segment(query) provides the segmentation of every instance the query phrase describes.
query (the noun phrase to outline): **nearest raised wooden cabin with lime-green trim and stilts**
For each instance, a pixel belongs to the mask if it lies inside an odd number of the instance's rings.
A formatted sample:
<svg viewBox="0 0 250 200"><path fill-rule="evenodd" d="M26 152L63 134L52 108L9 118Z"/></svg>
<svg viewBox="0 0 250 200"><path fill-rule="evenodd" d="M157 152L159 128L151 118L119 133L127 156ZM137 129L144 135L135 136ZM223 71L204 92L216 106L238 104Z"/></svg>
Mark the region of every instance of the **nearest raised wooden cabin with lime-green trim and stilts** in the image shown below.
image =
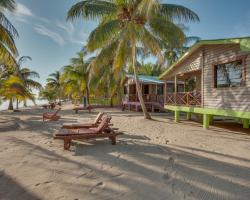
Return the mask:
<svg viewBox="0 0 250 200"><path fill-rule="evenodd" d="M203 115L208 128L213 116L233 117L249 128L250 121L250 37L202 40L192 46L161 76L174 80L174 93L166 94L164 108ZM178 81L185 82L178 92Z"/></svg>

